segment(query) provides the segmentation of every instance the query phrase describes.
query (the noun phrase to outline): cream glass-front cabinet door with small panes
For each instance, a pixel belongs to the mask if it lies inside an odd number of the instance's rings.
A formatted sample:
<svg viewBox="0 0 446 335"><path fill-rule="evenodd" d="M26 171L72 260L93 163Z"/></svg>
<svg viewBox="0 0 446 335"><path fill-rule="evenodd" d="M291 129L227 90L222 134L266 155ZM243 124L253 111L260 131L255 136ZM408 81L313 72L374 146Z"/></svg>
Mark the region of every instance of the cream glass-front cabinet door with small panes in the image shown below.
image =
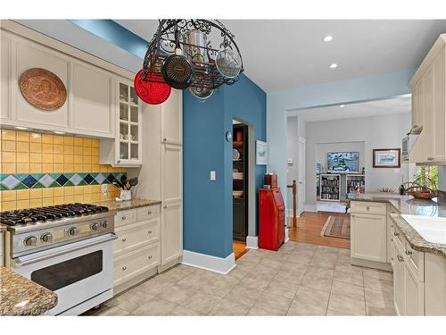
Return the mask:
<svg viewBox="0 0 446 335"><path fill-rule="evenodd" d="M132 83L118 81L118 124L116 129L116 163L118 165L140 165L142 163L142 102L136 95Z"/></svg>

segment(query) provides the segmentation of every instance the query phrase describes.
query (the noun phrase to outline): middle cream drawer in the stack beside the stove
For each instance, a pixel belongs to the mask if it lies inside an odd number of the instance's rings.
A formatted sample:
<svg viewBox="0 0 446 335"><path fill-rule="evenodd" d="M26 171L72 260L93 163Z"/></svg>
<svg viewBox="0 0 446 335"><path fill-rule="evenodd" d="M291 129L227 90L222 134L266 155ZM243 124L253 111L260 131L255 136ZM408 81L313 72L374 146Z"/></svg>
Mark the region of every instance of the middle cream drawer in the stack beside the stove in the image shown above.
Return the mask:
<svg viewBox="0 0 446 335"><path fill-rule="evenodd" d="M115 230L118 239L114 240L114 255L122 255L138 247L149 245L159 240L160 220L153 219L131 223Z"/></svg>

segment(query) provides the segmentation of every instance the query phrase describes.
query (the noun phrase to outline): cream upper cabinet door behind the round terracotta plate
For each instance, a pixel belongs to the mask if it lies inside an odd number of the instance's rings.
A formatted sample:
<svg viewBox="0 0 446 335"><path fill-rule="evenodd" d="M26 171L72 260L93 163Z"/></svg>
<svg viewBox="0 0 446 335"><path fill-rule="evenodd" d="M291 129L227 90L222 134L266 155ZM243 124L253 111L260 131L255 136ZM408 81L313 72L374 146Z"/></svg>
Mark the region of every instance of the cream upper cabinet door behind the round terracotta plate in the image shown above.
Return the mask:
<svg viewBox="0 0 446 335"><path fill-rule="evenodd" d="M19 80L21 74L24 71L28 71L32 68L42 68L48 71L52 71L60 80L62 80L63 85L69 91L69 72L70 63L67 59L62 58L60 55L54 53L49 48L44 46L39 46L35 43L29 42L27 40L18 40L15 43L15 57L12 59L12 64L15 61L15 66L12 71L12 89L13 96L15 99L15 108L12 105L12 119L15 119L21 123L21 125L44 128L44 129L54 129L52 127L62 127L64 129L70 127L70 117L69 117L69 99L67 96L67 101L62 107L56 109L55 111L43 111L30 105L27 100L21 95L21 90L19 88ZM15 115L14 115L15 110ZM15 117L14 117L15 116Z"/></svg>

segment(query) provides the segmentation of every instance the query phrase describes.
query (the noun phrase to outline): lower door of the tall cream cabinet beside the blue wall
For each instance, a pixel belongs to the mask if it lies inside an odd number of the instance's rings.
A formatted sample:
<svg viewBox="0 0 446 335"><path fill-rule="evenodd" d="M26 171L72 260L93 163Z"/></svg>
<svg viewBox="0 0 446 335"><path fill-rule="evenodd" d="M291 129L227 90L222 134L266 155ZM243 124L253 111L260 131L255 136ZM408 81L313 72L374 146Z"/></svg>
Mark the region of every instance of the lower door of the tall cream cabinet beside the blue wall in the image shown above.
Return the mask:
<svg viewBox="0 0 446 335"><path fill-rule="evenodd" d="M179 201L162 206L161 265L169 264L183 255L183 205Z"/></svg>

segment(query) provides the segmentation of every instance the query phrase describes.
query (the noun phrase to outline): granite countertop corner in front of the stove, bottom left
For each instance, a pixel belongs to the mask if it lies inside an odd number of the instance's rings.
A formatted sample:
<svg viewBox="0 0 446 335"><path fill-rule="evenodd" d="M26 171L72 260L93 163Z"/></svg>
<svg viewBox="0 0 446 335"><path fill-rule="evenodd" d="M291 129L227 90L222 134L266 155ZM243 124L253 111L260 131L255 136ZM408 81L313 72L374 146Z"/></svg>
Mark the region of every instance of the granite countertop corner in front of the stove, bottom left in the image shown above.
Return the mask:
<svg viewBox="0 0 446 335"><path fill-rule="evenodd" d="M0 266L0 315L40 315L57 305L57 295Z"/></svg>

